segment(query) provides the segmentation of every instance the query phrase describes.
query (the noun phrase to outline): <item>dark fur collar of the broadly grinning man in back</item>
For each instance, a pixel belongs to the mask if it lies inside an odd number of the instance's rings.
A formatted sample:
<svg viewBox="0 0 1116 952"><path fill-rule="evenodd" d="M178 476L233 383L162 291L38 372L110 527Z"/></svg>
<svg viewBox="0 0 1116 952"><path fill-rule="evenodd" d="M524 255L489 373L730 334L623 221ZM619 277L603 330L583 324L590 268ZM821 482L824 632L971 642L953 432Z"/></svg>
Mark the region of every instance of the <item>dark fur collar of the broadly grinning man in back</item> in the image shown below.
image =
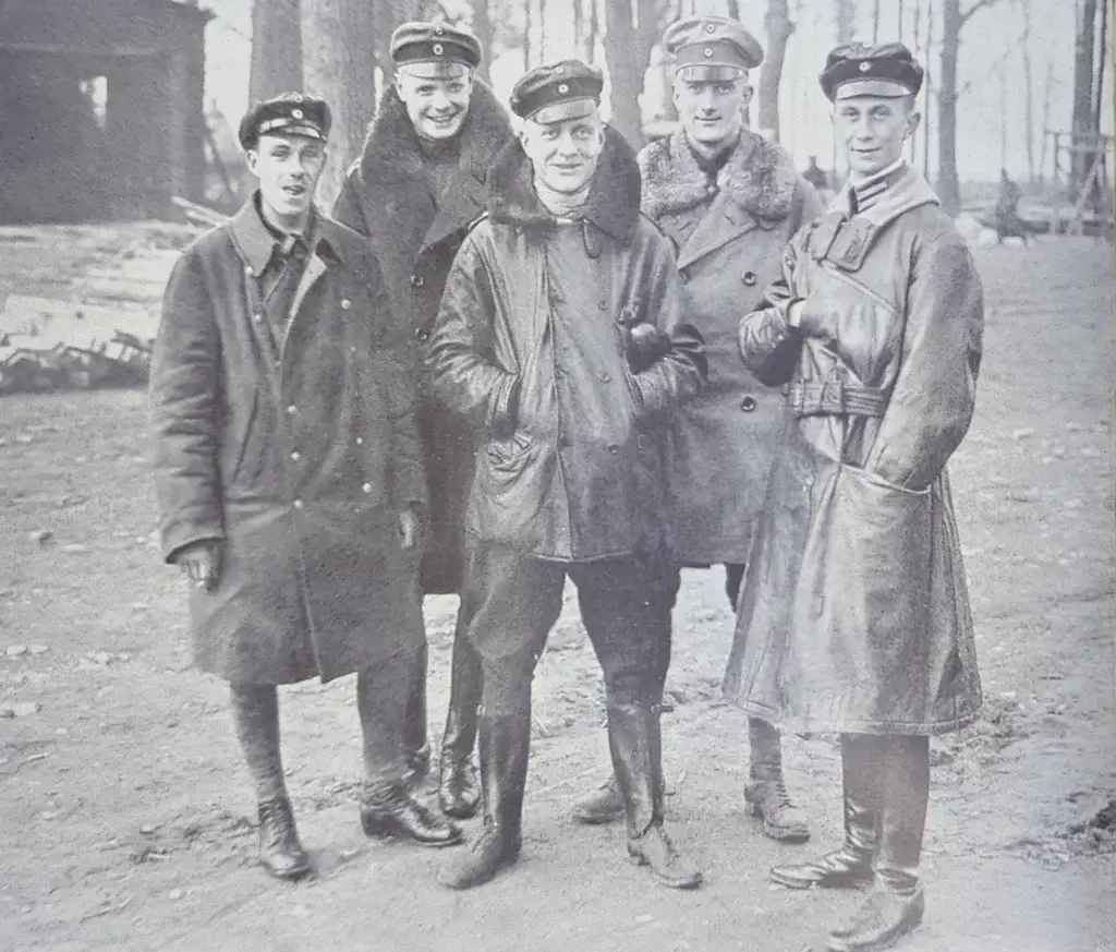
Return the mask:
<svg viewBox="0 0 1116 952"><path fill-rule="evenodd" d="M479 79L473 79L469 114L459 135L462 144L459 167L484 182L489 165L512 132L503 106ZM419 136L394 83L381 96L376 118L368 127L360 152L359 170L365 187L381 193L413 186L425 177L426 163Z"/></svg>

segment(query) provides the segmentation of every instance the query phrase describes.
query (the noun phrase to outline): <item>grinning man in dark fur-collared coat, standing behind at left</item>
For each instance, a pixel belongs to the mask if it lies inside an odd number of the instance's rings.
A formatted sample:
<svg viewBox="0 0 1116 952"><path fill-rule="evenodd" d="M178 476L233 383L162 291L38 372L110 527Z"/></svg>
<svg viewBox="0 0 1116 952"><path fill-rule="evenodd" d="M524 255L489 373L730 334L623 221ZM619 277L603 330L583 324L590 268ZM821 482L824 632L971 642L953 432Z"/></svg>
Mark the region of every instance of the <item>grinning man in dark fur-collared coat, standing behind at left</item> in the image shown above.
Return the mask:
<svg viewBox="0 0 1116 952"><path fill-rule="evenodd" d="M469 225L484 211L488 170L511 138L491 90L472 76L477 39L444 23L404 23L392 37L396 81L386 90L335 217L371 238L403 333L416 347L430 337L450 265ZM477 810L471 766L480 669L462 633L471 615L461 590L462 513L473 471L469 425L430 395L415 362L419 432L430 487L423 592L460 593L453 673L442 739L440 800L451 816ZM426 652L419 656L407 708L413 776L426 771Z"/></svg>

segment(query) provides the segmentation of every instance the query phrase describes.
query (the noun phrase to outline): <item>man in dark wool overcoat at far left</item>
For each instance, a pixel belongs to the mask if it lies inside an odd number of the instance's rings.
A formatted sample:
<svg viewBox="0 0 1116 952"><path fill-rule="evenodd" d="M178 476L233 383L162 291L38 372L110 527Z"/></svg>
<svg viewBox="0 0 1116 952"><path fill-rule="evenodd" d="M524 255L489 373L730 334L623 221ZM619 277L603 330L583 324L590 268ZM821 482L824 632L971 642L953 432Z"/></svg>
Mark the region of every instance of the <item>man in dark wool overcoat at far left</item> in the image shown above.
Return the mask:
<svg viewBox="0 0 1116 952"><path fill-rule="evenodd" d="M260 860L285 879L310 864L278 684L356 672L365 831L461 838L403 782L426 492L408 345L376 259L314 205L328 129L327 105L299 94L244 117L259 190L175 265L151 379L163 554L193 583L195 662L230 682Z"/></svg>

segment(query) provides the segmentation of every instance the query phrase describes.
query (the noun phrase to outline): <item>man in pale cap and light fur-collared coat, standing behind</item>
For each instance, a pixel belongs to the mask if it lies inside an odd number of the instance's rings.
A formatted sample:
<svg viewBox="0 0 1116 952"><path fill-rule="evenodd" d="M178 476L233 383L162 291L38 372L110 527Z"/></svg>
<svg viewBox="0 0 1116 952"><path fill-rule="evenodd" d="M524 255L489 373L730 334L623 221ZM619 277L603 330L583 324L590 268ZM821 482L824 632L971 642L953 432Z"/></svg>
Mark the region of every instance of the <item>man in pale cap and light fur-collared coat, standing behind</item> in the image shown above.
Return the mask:
<svg viewBox="0 0 1116 952"><path fill-rule="evenodd" d="M642 206L674 243L689 319L709 359L705 391L674 429L672 546L680 565L723 565L735 607L785 412L779 391L741 364L737 328L779 275L791 235L821 205L791 157L745 128L748 70L763 58L747 30L720 17L686 19L666 30L663 47L675 60L681 127L639 154ZM672 598L677 586L675 575ZM768 836L806 839L806 819L783 783L778 732L752 718L749 738L749 809ZM619 807L610 781L575 818L602 823L618 818Z"/></svg>

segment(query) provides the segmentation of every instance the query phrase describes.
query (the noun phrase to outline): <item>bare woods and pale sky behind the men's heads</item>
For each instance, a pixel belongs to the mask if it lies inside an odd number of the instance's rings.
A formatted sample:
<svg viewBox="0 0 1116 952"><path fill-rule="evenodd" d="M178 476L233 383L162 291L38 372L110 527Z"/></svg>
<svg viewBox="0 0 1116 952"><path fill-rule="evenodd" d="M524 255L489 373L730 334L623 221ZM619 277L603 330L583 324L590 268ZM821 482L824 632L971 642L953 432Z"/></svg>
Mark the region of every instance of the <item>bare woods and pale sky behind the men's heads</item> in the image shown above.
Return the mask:
<svg viewBox="0 0 1116 952"><path fill-rule="evenodd" d="M1031 182L1041 181L1050 164L1048 136L1039 134L1051 125L1051 88L1042 84L1043 102L1037 103L1036 73L1046 70L1052 56L1033 61L1030 29L1036 4L1050 0L834 0L830 10L833 41L892 40L894 29L882 33L885 18L899 27L898 39L910 46L927 67L925 89L920 98L923 112L921 141L913 157L931 174L931 136L937 156L936 187L943 205L955 213L961 206L958 175L958 109L973 81L959 83L962 57L987 56L980 46L965 44L966 27L982 10L1000 8L1004 28L1019 31L1020 42L1009 44L991 60L981 83L999 83L1001 102L1007 100L1009 59L1022 61L1024 108L1018 117L1027 127L1027 167ZM1103 104L1112 99L1104 88L1106 36L1112 0L1062 0L1067 17L1075 21L1072 138L1070 191L1080 184L1093 164L1087 143L1100 128ZM750 16L762 11L767 57L756 81L752 110L754 127L778 140L792 134L795 115L780 116L780 81L788 42L796 23L807 12L817 13L816 2L766 0L747 4ZM344 170L356 155L375 110L376 93L391 78L387 44L392 30L405 20L445 20L472 29L488 52L481 67L508 50L521 52L522 68L538 65L547 50L548 32L568 37L573 30L578 55L604 67L609 122L636 146L660 134L674 118L670 106L667 65L658 39L672 20L692 13L720 13L740 19L739 0L254 0L252 8L252 99L279 92L305 88L328 98L335 109L335 157L326 181L328 201L339 187ZM869 25L870 35L864 26ZM758 23L754 26L759 26ZM859 26L859 29L857 27ZM819 64L820 65L820 64ZM657 77L656 77L657 74ZM654 95L653 95L654 90ZM652 102L654 100L654 102ZM648 117L648 114L651 116ZM1001 152L1007 152L1008 126L1016 117L1007 109L998 116ZM1037 148L1038 143L1038 148ZM1051 140L1050 148L1056 148ZM836 153L835 153L836 155ZM834 161L834 156L822 160ZM822 162L825 164L825 162ZM1006 162L1003 163L1006 164Z"/></svg>

